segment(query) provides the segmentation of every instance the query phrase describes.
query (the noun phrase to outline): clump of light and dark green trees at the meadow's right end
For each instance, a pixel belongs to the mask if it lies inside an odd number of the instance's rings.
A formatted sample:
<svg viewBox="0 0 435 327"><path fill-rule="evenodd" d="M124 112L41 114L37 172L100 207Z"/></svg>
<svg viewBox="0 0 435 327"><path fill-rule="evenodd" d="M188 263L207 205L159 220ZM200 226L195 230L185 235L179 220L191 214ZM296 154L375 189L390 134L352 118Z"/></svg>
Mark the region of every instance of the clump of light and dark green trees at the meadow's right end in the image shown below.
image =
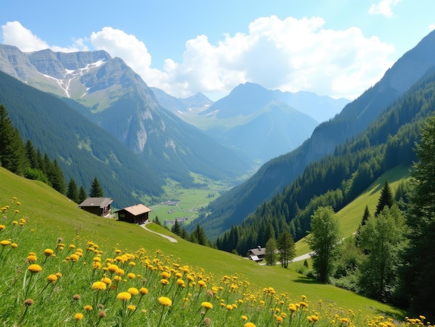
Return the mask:
<svg viewBox="0 0 435 327"><path fill-rule="evenodd" d="M411 178L397 187L388 181L374 215L363 212L356 233L341 239L331 206L311 216L307 242L313 269L305 274L435 319L435 116L416 144Z"/></svg>

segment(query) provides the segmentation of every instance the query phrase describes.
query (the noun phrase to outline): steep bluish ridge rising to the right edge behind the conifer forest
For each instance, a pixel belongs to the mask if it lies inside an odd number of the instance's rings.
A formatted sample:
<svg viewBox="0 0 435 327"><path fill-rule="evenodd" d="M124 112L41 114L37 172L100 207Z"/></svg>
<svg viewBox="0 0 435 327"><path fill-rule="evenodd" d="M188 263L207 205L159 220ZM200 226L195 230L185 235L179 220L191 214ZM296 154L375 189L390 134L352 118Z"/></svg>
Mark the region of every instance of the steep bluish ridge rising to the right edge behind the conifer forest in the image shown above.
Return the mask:
<svg viewBox="0 0 435 327"><path fill-rule="evenodd" d="M254 176L210 203L209 214L197 219L209 236L220 235L240 224L250 212L303 173L310 162L334 153L339 144L356 137L435 65L435 32L429 33L402 56L383 78L347 104L334 119L315 128L313 135L294 151L266 162ZM315 187L315 186L314 186Z"/></svg>

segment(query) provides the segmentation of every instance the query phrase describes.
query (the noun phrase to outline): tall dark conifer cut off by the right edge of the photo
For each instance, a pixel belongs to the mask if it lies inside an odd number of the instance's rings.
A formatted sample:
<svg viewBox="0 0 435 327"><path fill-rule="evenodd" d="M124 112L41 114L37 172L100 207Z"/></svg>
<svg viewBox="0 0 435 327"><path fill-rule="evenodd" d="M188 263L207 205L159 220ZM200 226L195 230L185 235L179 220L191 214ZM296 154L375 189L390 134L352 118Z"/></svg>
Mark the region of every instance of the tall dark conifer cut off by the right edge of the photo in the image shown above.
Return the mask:
<svg viewBox="0 0 435 327"><path fill-rule="evenodd" d="M404 300L411 299L413 312L435 319L435 116L422 130L416 155L405 216L410 230L402 292Z"/></svg>

